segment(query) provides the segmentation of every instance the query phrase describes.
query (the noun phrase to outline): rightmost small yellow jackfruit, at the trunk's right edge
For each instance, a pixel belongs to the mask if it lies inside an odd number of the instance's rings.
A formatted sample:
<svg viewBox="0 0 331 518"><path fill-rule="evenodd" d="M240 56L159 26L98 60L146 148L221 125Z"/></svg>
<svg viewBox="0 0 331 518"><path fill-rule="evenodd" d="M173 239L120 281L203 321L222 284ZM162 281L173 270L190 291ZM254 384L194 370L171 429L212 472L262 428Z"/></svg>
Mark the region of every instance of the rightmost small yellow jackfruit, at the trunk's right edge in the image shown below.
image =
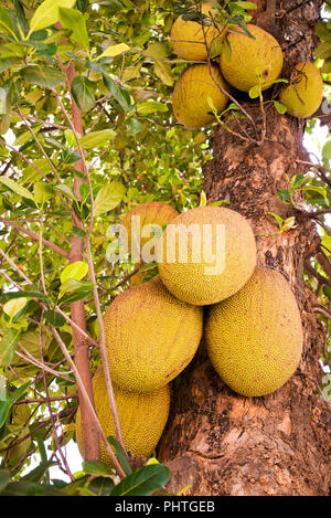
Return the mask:
<svg viewBox="0 0 331 518"><path fill-rule="evenodd" d="M318 67L310 62L296 65L298 71L293 83L281 88L279 101L293 117L306 118L313 115L323 98L323 80Z"/></svg>

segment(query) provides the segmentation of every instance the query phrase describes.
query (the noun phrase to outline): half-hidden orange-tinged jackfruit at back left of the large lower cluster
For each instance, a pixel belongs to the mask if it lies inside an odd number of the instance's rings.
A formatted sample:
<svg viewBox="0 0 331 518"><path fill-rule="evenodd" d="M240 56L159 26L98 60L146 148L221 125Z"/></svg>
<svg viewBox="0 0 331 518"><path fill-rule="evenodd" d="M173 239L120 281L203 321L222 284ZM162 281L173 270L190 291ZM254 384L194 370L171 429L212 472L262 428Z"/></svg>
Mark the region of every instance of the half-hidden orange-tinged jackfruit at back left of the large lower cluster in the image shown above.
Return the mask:
<svg viewBox="0 0 331 518"><path fill-rule="evenodd" d="M132 255L139 258L141 252L143 253L141 249L153 239L153 225L163 226L177 215L179 213L173 207L161 201L140 203L131 209L122 220L122 225L128 233L129 253L132 252Z"/></svg>

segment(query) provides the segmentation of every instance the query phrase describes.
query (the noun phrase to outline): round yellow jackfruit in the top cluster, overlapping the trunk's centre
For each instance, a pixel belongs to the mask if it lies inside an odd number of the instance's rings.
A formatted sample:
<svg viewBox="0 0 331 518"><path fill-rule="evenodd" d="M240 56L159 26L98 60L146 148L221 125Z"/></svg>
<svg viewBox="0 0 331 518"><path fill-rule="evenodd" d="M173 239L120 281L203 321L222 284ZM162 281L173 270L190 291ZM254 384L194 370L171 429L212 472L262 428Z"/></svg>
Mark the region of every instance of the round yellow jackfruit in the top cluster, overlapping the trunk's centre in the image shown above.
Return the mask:
<svg viewBox="0 0 331 518"><path fill-rule="evenodd" d="M255 39L244 32L227 35L231 56L222 52L221 72L227 83L242 92L249 92L258 84L258 74L264 80L263 89L269 88L282 68L281 47L264 29L253 24L248 24L247 29Z"/></svg>

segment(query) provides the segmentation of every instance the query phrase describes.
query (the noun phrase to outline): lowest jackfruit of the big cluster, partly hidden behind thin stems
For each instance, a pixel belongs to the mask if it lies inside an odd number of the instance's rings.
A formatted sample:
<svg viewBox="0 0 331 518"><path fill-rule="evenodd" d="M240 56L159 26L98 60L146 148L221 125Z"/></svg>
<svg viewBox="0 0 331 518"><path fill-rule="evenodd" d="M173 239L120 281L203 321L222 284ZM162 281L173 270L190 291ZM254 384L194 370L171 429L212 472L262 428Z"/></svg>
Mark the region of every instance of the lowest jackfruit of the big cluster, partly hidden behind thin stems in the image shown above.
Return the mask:
<svg viewBox="0 0 331 518"><path fill-rule="evenodd" d="M149 457L156 448L166 426L170 408L170 387L139 394L125 392L113 385L116 408L119 416L126 450L137 457ZM104 373L98 369L93 378L95 410L106 437L115 436L115 426ZM76 440L84 457L84 442L81 410L76 416ZM100 441L100 459L111 466L111 459Z"/></svg>

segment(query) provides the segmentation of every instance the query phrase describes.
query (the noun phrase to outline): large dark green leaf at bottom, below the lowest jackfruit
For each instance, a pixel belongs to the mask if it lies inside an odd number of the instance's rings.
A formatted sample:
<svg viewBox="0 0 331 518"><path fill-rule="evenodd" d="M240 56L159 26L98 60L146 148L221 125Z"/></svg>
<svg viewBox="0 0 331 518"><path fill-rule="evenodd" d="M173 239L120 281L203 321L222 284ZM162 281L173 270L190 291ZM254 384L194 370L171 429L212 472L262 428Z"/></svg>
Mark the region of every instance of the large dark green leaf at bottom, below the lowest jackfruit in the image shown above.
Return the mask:
<svg viewBox="0 0 331 518"><path fill-rule="evenodd" d="M143 466L122 478L110 496L148 496L164 486L169 478L170 471L162 464Z"/></svg>

